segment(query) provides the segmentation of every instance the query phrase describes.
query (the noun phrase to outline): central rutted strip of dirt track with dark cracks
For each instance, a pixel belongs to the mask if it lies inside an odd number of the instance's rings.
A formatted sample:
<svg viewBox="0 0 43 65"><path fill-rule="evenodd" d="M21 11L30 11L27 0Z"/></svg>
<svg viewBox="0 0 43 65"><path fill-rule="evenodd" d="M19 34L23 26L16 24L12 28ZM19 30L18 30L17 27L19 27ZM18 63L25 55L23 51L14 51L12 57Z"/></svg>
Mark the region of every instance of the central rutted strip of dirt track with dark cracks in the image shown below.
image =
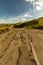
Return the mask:
<svg viewBox="0 0 43 65"><path fill-rule="evenodd" d="M32 57L32 48L28 44L30 39L28 39L28 35L26 34L25 31L20 33L20 39L22 41L22 46L18 48L19 57L18 57L16 65L36 65L36 62L34 58ZM29 50L28 50L28 47L29 47Z"/></svg>

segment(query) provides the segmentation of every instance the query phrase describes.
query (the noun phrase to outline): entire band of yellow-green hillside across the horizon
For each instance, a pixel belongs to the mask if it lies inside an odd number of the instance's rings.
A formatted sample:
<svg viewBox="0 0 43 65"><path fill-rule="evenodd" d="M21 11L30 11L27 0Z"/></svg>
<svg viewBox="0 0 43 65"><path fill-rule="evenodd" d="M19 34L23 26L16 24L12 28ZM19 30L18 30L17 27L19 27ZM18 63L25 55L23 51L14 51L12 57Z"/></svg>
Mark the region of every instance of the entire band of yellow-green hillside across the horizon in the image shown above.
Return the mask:
<svg viewBox="0 0 43 65"><path fill-rule="evenodd" d="M0 33L9 31L11 28L43 29L43 17L26 21L24 23L19 22L16 24L0 24Z"/></svg>

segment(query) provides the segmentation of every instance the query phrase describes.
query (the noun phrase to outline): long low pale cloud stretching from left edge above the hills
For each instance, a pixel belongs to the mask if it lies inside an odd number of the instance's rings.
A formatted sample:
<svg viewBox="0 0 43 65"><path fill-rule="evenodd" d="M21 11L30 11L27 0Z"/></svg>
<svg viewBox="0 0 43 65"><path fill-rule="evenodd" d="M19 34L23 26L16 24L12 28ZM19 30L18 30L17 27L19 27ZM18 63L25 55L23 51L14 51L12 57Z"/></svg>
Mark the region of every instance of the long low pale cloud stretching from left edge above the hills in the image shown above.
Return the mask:
<svg viewBox="0 0 43 65"><path fill-rule="evenodd" d="M0 23L16 23L16 22L24 22L26 20L29 20L29 18L32 18L33 16L29 13L24 13L22 15L19 15L17 17L11 17L7 20L0 20Z"/></svg>

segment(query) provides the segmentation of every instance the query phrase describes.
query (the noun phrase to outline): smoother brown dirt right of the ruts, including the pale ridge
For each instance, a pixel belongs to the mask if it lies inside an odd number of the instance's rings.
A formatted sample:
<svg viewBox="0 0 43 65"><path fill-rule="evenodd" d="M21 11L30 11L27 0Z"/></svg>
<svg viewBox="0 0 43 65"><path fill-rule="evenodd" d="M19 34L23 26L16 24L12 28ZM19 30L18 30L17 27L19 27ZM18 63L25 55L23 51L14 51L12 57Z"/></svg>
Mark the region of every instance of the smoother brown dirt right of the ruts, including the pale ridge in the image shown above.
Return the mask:
<svg viewBox="0 0 43 65"><path fill-rule="evenodd" d="M31 46L37 65L43 65L43 30L27 29L32 38ZM32 32L32 33L31 33ZM40 33L42 36L40 36Z"/></svg>

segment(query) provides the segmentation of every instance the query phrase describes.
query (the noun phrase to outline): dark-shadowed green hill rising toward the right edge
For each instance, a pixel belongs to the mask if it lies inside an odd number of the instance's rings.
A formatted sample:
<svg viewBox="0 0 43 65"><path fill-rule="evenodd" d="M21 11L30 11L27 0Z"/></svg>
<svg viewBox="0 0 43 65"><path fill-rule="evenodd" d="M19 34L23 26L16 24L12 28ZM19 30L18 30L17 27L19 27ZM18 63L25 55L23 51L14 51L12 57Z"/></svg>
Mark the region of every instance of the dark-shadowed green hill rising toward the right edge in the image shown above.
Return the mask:
<svg viewBox="0 0 43 65"><path fill-rule="evenodd" d="M24 28L24 27L32 29L43 29L43 17L31 21L26 21L24 23L14 24L14 28Z"/></svg>

